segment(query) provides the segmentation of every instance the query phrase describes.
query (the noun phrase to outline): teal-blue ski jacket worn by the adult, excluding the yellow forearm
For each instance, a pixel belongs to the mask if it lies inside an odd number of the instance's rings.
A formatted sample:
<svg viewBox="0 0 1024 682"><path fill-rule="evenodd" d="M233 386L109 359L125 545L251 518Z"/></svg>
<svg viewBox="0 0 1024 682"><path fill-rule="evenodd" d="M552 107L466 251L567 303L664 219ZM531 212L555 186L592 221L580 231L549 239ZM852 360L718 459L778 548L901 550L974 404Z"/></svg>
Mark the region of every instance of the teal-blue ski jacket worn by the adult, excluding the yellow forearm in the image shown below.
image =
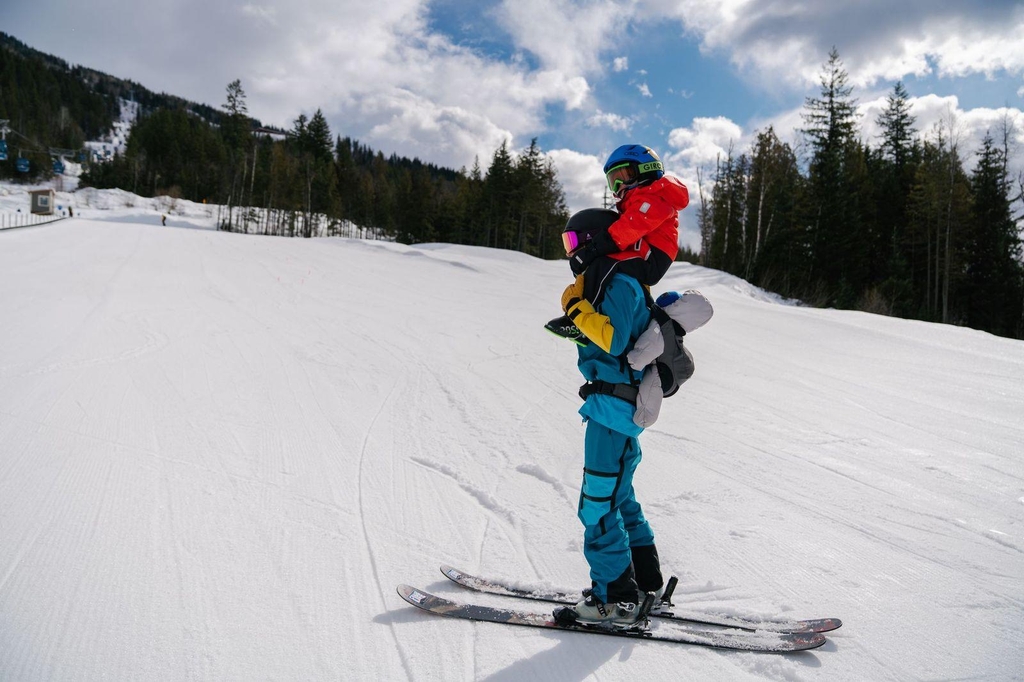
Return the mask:
<svg viewBox="0 0 1024 682"><path fill-rule="evenodd" d="M626 274L612 275L605 285L604 299L597 306L597 312L607 316L614 330L610 352L605 352L596 343L580 346L577 363L580 373L587 381L639 383L643 373L630 368L626 353L650 322L650 310L640 283ZM580 408L584 421L592 419L613 431L637 436L643 429L633 422L633 412L634 407L626 400L604 394L589 396Z"/></svg>

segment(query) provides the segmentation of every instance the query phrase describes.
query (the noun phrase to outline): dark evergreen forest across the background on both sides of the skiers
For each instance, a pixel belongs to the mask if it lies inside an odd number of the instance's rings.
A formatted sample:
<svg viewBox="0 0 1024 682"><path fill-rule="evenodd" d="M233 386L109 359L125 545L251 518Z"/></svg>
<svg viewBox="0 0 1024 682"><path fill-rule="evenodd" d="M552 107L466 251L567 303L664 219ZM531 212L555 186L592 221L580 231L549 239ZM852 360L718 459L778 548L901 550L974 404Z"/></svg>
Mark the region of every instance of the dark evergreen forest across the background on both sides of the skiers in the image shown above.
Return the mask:
<svg viewBox="0 0 1024 682"><path fill-rule="evenodd" d="M799 148L771 127L690 186L698 261L811 305L969 326L1024 338L1020 236L1024 177L1014 176L1016 122L967 150L950 115L918 130L902 83L863 140L853 88L834 49L808 97ZM48 173L47 148L104 134L121 97L140 103L127 152L89 165L82 183L219 207L222 229L312 237L353 226L402 243L447 242L563 255L568 217L557 172L537 140L507 143L486 167L453 170L385 157L330 130L321 111L266 134L240 81L214 109L71 67L0 34L0 119ZM13 155L11 155L13 156ZM31 156L31 154L30 154ZM966 159L973 159L970 167ZM13 159L0 177L24 177Z"/></svg>

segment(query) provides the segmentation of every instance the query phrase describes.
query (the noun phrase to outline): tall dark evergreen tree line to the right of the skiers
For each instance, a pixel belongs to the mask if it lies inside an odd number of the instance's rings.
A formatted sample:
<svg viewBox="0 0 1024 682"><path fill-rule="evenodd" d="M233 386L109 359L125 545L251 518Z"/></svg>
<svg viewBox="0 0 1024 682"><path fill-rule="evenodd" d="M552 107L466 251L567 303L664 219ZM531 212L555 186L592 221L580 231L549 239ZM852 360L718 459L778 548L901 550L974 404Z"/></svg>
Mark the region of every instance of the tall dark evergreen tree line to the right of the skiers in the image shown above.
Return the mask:
<svg viewBox="0 0 1024 682"><path fill-rule="evenodd" d="M833 49L804 108L806 164L768 127L710 178L698 173L701 262L815 305L1024 338L1014 122L990 131L966 169L952 115L921 135L897 83L871 146L852 91Z"/></svg>

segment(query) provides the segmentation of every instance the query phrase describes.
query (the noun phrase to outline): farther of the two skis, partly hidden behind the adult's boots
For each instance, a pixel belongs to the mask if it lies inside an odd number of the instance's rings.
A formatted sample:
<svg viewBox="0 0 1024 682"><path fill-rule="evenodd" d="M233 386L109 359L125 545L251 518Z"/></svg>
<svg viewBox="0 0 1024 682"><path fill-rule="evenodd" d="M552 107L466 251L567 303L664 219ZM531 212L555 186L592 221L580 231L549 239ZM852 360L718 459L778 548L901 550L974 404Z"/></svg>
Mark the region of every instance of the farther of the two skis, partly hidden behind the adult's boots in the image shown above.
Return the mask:
<svg viewBox="0 0 1024 682"><path fill-rule="evenodd" d="M509 585L502 581L486 580L476 578L463 572L458 568L442 565L441 572L450 581L461 585L464 588L497 594L505 597L518 597L520 599L532 599L535 601L547 601L555 604L574 604L580 597L564 592L551 590L527 590L524 588ZM664 607L663 607L664 609ZM746 631L766 631L776 633L822 633L837 630L843 626L839 619L811 619L811 620L761 620L751 619L726 613L714 613L693 609L677 608L675 605L669 607L670 610L655 610L651 616L666 619L679 623L691 623L701 626L718 626L721 628L733 628Z"/></svg>

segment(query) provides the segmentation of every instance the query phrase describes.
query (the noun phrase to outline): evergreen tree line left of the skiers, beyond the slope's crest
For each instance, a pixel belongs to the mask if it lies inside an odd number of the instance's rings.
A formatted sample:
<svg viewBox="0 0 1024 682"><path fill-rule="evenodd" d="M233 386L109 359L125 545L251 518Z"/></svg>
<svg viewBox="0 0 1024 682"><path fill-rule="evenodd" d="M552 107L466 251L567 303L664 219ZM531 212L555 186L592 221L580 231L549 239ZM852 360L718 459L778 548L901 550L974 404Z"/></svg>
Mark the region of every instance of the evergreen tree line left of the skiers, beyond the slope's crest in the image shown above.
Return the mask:
<svg viewBox="0 0 1024 682"><path fill-rule="evenodd" d="M319 110L285 139L253 134L239 81L223 110L219 126L182 109L141 117L124 156L82 181L224 205L220 226L232 231L311 237L354 223L403 243L562 255L564 194L537 140L518 155L503 143L485 172L478 162L455 171L335 136Z"/></svg>

